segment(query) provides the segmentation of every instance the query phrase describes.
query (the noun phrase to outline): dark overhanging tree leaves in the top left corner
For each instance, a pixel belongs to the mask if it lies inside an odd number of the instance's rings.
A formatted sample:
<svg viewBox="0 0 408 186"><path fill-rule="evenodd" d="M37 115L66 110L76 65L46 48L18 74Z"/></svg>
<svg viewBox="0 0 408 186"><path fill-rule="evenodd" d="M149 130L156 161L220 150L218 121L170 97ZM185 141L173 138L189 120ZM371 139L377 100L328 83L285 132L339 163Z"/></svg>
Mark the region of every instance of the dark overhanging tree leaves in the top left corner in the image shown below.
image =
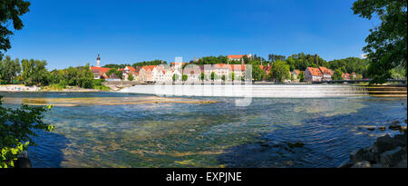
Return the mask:
<svg viewBox="0 0 408 186"><path fill-rule="evenodd" d="M24 0L0 1L0 60L3 59L2 51L6 52L11 48L10 36L14 34L7 28L7 24L13 22L15 30L23 29L20 16L30 11L29 6L30 2Z"/></svg>

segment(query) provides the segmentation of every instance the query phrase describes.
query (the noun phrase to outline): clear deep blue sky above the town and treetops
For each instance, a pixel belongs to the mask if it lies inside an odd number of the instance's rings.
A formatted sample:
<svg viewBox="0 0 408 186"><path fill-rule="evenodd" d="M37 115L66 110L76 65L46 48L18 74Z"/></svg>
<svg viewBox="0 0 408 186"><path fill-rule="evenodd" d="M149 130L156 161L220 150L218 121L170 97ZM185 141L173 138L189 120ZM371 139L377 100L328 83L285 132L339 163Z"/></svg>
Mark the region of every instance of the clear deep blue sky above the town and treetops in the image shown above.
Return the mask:
<svg viewBox="0 0 408 186"><path fill-rule="evenodd" d="M33 0L12 58L48 68L174 61L219 54L360 57L376 24L354 15L354 0Z"/></svg>

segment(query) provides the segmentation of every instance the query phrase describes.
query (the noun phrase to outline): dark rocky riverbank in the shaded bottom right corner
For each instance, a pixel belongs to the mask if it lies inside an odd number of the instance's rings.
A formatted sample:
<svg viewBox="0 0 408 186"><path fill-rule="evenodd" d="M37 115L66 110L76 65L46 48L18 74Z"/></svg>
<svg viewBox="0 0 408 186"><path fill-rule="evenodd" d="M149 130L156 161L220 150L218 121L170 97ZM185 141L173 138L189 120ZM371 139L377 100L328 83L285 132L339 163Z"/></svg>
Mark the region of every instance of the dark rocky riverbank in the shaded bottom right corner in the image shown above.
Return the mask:
<svg viewBox="0 0 408 186"><path fill-rule="evenodd" d="M339 168L406 168L407 133L386 134L377 138L372 147L365 147L350 153L350 160Z"/></svg>

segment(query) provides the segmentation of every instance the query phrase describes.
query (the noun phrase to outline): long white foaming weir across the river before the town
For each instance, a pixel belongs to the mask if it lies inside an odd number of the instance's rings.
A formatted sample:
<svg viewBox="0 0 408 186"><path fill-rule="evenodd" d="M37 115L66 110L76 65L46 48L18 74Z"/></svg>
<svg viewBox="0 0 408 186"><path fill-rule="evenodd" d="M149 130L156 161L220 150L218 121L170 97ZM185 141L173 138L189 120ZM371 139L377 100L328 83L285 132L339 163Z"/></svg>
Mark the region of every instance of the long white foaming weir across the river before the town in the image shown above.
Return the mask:
<svg viewBox="0 0 408 186"><path fill-rule="evenodd" d="M159 96L259 98L327 98L368 95L363 86L348 84L135 85L124 88L119 92Z"/></svg>

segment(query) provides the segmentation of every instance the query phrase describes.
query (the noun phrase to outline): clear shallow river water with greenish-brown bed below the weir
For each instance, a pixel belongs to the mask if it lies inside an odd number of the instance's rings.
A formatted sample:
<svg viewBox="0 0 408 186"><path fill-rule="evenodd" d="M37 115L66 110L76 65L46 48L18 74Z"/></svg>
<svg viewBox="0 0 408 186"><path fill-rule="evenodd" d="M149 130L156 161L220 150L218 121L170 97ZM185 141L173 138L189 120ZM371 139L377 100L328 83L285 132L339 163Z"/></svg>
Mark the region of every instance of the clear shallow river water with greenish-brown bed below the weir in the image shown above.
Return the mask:
<svg viewBox="0 0 408 186"><path fill-rule="evenodd" d="M147 97L129 93L0 93L24 97ZM194 98L218 103L54 107L29 148L34 167L336 167L406 119L406 98ZM18 105L5 103L6 106ZM406 125L403 123L403 125ZM287 142L304 142L290 148Z"/></svg>

